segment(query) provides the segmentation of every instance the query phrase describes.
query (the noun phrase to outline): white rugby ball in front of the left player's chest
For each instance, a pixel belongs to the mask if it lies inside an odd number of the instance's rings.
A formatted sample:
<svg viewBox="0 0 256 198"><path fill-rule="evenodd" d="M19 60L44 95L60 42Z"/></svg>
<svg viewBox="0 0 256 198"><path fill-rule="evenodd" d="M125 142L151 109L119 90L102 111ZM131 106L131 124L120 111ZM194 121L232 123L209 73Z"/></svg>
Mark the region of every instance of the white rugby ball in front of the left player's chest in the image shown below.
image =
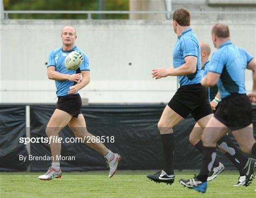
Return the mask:
<svg viewBox="0 0 256 198"><path fill-rule="evenodd" d="M70 52L65 59L65 67L69 70L76 70L83 61L83 54L80 51Z"/></svg>

